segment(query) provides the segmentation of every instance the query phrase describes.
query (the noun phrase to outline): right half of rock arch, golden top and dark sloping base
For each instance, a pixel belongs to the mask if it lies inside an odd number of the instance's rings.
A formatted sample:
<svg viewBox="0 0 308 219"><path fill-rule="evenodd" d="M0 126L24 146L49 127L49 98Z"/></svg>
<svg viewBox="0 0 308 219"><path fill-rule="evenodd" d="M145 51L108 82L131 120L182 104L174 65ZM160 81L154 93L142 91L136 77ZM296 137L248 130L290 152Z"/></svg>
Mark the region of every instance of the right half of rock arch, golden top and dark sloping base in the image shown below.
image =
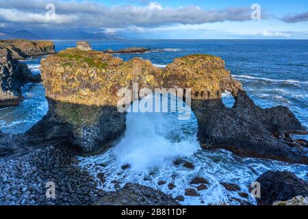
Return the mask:
<svg viewBox="0 0 308 219"><path fill-rule="evenodd" d="M238 155L308 164L307 156L272 134L304 134L307 129L287 107L262 109L255 105L219 57L188 55L176 59L164 70L164 86L192 89L192 110L203 149L228 149ZM226 90L235 99L232 108L222 103Z"/></svg>

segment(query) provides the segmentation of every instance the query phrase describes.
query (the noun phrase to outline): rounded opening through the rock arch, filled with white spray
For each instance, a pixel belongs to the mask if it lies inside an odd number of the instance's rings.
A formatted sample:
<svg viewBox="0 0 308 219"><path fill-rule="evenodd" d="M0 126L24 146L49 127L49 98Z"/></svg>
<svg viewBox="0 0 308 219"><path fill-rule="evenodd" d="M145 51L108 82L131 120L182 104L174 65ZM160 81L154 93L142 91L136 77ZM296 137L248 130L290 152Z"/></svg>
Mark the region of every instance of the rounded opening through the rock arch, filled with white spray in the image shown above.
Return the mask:
<svg viewBox="0 0 308 219"><path fill-rule="evenodd" d="M157 103L164 107L165 98L167 111L155 112ZM153 111L133 110L149 103ZM128 108L125 135L112 148L114 157L121 164L129 164L133 170L159 168L172 164L179 157L190 157L201 149L196 137L196 116L179 96L154 92L133 101ZM190 118L179 119L187 111L191 112Z"/></svg>

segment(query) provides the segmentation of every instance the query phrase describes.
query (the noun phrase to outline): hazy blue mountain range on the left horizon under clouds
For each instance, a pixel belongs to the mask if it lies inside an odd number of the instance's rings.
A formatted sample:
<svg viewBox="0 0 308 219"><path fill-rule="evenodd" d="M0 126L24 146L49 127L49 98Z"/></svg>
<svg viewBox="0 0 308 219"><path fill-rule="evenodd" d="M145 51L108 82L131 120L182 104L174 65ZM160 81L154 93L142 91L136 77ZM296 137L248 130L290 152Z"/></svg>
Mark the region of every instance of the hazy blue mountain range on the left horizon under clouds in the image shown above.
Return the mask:
<svg viewBox="0 0 308 219"><path fill-rule="evenodd" d="M124 39L118 34L90 33L86 31L1 31L0 39L25 39L25 40L120 40Z"/></svg>

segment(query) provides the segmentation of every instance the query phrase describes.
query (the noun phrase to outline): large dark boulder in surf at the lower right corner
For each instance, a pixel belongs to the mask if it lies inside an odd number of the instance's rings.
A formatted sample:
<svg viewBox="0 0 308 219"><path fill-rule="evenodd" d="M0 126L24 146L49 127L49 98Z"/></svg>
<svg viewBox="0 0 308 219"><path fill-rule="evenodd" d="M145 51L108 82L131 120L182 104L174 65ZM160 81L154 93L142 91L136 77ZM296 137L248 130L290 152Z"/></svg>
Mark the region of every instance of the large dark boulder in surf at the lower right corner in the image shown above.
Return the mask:
<svg viewBox="0 0 308 219"><path fill-rule="evenodd" d="M275 201L287 201L295 196L308 196L308 183L287 171L268 171L260 175L261 198L258 205L272 205Z"/></svg>

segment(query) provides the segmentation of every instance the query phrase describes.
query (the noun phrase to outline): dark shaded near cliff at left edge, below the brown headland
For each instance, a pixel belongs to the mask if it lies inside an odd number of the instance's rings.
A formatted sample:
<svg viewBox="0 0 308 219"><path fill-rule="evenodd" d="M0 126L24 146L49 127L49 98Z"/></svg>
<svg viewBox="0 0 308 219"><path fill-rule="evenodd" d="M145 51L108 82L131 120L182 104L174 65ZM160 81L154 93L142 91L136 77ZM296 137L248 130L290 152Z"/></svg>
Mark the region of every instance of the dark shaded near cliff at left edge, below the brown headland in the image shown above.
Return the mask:
<svg viewBox="0 0 308 219"><path fill-rule="evenodd" d="M21 87L25 83L39 82L26 64L14 60L10 50L0 46L0 107L18 105L23 99Z"/></svg>

